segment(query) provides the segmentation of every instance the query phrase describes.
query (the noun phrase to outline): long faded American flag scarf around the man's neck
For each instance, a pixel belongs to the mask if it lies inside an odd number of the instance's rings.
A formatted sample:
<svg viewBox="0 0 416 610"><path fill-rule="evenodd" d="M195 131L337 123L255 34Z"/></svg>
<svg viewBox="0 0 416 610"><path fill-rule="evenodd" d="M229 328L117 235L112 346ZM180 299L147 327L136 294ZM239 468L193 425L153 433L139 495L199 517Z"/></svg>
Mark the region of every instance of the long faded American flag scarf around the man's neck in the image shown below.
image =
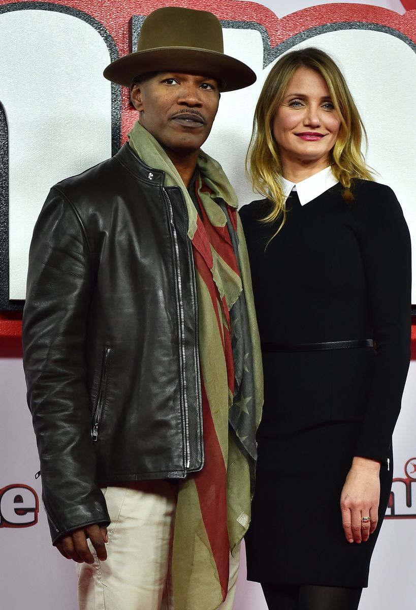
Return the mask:
<svg viewBox="0 0 416 610"><path fill-rule="evenodd" d="M175 610L215 610L228 590L229 553L250 520L256 428L263 401L260 342L237 197L221 166L201 151L195 196L149 132L130 144L182 189L188 211L199 316L203 469L179 481L173 541Z"/></svg>

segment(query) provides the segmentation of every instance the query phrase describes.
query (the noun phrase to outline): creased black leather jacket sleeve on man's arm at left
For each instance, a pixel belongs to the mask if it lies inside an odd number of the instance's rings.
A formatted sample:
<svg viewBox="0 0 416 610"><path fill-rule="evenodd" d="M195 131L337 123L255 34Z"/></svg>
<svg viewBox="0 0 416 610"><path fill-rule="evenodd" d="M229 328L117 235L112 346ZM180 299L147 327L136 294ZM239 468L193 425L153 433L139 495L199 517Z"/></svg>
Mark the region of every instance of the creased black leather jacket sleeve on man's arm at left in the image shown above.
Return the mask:
<svg viewBox="0 0 416 610"><path fill-rule="evenodd" d="M94 265L74 206L52 188L35 225L23 314L27 401L52 541L109 523L95 483L85 342Z"/></svg>

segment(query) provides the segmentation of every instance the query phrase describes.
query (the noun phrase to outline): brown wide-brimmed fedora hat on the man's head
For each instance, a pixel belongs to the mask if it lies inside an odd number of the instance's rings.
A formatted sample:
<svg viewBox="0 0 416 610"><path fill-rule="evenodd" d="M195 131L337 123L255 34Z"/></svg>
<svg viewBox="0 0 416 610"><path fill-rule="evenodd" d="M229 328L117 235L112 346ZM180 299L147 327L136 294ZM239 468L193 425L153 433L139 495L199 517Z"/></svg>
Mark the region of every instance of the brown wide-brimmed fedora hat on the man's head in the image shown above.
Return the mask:
<svg viewBox="0 0 416 610"><path fill-rule="evenodd" d="M242 89L256 81L245 63L224 55L223 30L215 15L173 6L146 17L137 51L110 63L104 76L129 87L136 76L161 71L206 74L221 81L221 91Z"/></svg>

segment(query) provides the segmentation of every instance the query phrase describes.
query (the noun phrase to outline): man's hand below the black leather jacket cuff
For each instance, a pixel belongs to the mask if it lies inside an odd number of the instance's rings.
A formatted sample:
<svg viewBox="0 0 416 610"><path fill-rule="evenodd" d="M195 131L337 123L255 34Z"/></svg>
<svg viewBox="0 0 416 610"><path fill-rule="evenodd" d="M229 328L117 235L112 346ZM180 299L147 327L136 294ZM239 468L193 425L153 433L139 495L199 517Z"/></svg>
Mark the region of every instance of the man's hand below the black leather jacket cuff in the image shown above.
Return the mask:
<svg viewBox="0 0 416 610"><path fill-rule="evenodd" d="M93 564L95 559L88 548L87 538L95 548L100 561L107 559L106 542L109 541L107 528L104 525L86 525L85 528L74 529L70 534L62 536L56 543L59 552L66 559L73 559L78 564Z"/></svg>

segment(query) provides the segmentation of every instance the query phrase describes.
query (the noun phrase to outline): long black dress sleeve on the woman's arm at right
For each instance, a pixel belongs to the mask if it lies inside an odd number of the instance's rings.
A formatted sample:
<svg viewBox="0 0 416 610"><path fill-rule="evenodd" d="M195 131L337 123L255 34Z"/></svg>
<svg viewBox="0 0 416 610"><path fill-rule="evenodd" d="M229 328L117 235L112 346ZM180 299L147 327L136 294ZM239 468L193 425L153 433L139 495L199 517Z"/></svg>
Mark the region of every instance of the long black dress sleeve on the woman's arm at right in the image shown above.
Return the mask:
<svg viewBox="0 0 416 610"><path fill-rule="evenodd" d="M411 352L411 240L400 204L384 185L357 193L357 234L376 342L376 368L356 456L386 462Z"/></svg>

